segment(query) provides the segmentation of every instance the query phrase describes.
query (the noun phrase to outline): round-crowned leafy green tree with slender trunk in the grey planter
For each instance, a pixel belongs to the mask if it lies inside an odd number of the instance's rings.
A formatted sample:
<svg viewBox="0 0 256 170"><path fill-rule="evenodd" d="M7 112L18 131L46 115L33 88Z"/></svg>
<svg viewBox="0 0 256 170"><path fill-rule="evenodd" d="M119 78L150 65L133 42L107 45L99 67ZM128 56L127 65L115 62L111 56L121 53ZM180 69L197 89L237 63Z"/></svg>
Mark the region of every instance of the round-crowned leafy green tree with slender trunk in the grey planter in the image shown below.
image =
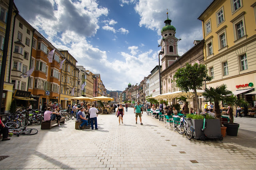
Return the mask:
<svg viewBox="0 0 256 170"><path fill-rule="evenodd" d="M190 89L194 91L197 113L200 113L200 108L196 89L202 87L202 85L204 85L203 82L212 80L212 77L210 77L207 72L208 70L203 64L198 65L198 63L195 63L194 65L191 65L186 63L186 67L179 68L174 74L176 86L179 87L181 91L188 92Z"/></svg>

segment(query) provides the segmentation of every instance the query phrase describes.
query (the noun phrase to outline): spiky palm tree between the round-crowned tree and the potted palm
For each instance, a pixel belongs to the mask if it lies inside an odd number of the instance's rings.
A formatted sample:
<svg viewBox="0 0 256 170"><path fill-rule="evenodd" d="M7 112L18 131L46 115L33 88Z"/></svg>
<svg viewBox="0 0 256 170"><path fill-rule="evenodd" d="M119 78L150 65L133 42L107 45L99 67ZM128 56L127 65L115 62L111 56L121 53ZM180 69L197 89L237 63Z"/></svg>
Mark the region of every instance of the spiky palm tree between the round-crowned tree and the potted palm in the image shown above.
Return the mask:
<svg viewBox="0 0 256 170"><path fill-rule="evenodd" d="M214 102L214 111L215 117L221 121L221 112L220 112L220 101L224 101L227 95L232 94L232 91L227 89L227 85L222 84L216 88L210 87L204 89L202 94L206 101Z"/></svg>

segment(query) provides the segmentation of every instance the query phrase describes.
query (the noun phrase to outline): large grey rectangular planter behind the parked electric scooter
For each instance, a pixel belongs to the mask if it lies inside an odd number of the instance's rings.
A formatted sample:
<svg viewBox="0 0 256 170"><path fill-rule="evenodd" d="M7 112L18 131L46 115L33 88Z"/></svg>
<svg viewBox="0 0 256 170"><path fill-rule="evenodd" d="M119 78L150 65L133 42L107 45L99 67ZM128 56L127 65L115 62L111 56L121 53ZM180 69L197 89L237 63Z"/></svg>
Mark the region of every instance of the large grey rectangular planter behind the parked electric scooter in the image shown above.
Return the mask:
<svg viewBox="0 0 256 170"><path fill-rule="evenodd" d="M185 119L186 121L188 121L187 118ZM199 139L203 134L202 127L204 125L204 120L191 119L191 121L188 121L188 125L194 128L194 138ZM220 119L206 119L206 128L204 130L204 134L208 138L219 138L219 136L221 135Z"/></svg>

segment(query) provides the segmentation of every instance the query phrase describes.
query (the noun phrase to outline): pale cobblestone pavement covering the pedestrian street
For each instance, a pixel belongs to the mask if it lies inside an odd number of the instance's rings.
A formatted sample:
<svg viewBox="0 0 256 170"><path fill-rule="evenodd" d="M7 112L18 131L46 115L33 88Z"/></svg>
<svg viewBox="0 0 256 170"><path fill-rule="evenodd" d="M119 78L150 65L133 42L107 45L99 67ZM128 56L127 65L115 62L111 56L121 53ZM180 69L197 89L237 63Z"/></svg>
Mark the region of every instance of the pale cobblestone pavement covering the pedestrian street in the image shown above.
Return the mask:
<svg viewBox="0 0 256 170"><path fill-rule="evenodd" d="M98 130L76 130L74 121L51 130L31 126L38 134L0 141L0 156L9 156L0 169L256 169L256 132L188 140L146 113L144 125L136 125L132 111L125 112L123 125L115 113L99 115Z"/></svg>

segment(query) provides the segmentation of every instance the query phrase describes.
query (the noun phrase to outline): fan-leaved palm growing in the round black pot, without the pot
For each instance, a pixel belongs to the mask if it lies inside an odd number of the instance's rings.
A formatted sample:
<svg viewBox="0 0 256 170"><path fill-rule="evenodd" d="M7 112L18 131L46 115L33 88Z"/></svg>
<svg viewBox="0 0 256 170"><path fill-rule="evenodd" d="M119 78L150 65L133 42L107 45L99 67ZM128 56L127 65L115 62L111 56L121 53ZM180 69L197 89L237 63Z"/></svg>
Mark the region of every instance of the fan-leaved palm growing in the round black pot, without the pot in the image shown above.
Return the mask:
<svg viewBox="0 0 256 170"><path fill-rule="evenodd" d="M244 107L245 105L249 105L247 101L244 99L237 99L237 97L234 95L225 96L224 102L226 102L227 105L230 105L230 109L228 109L230 124L234 124L233 107Z"/></svg>

